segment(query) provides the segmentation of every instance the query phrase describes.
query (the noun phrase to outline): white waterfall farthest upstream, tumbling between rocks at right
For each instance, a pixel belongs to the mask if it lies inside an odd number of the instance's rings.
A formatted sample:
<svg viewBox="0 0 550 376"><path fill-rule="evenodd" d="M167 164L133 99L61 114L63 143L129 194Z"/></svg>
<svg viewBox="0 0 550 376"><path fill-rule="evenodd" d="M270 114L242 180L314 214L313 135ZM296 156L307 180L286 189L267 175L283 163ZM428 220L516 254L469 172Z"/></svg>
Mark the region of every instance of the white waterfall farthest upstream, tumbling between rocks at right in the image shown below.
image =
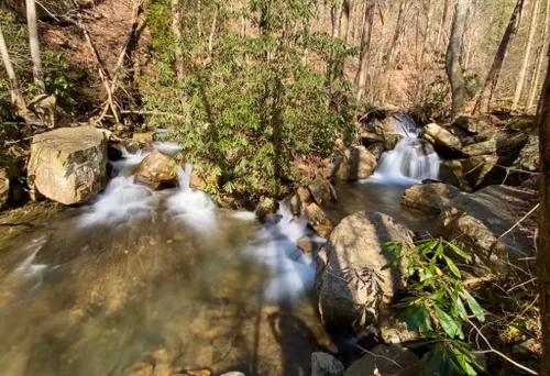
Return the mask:
<svg viewBox="0 0 550 376"><path fill-rule="evenodd" d="M402 134L404 139L381 156L375 174L369 179L407 184L438 179L441 159L429 142L418 139L416 122L403 113L394 115L392 122L395 124L392 133Z"/></svg>

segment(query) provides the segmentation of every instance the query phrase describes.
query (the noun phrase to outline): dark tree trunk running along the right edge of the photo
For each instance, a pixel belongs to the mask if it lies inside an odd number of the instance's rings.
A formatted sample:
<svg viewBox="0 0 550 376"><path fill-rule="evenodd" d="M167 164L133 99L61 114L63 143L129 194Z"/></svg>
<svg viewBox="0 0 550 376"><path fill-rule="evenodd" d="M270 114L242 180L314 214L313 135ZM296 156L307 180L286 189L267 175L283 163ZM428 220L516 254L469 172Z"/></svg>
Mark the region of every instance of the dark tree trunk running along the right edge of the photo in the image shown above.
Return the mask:
<svg viewBox="0 0 550 376"><path fill-rule="evenodd" d="M550 69L547 69L537 119L540 142L540 211L537 247L537 280L539 283L542 328L542 369L540 375L550 375L550 231L548 231L550 223Z"/></svg>

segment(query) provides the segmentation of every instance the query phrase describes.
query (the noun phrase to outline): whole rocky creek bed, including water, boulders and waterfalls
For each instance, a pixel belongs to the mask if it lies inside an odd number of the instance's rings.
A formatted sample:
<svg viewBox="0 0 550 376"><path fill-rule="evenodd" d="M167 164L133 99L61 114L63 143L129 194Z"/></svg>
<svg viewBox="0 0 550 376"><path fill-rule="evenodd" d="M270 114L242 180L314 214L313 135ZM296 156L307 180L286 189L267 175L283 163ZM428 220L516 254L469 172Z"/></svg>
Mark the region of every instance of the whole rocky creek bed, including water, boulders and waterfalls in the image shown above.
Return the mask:
<svg viewBox="0 0 550 376"><path fill-rule="evenodd" d="M0 253L4 371L422 374L407 350L416 334L391 314L404 266L383 269L382 243L453 241L474 256L472 279L531 267L532 225L517 223L537 201L536 142L484 121L370 118L358 144L255 212L217 208L201 191L212 178L173 162L175 145L148 147L151 135L35 137L31 196L72 207L18 217L29 225L16 232L14 211L0 219L14 232Z"/></svg>

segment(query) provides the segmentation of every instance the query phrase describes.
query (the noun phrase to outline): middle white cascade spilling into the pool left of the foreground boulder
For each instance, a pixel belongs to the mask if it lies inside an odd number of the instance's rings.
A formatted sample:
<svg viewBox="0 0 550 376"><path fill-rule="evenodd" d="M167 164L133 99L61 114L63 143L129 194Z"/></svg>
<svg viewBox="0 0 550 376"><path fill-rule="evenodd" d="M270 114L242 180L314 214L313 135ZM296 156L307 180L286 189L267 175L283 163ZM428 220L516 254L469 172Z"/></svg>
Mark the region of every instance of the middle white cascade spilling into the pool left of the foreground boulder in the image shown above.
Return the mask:
<svg viewBox="0 0 550 376"><path fill-rule="evenodd" d="M266 224L246 253L267 266L264 297L270 303L294 302L314 287L315 265L296 246L308 234L307 220L293 221L290 210L280 203L278 223Z"/></svg>

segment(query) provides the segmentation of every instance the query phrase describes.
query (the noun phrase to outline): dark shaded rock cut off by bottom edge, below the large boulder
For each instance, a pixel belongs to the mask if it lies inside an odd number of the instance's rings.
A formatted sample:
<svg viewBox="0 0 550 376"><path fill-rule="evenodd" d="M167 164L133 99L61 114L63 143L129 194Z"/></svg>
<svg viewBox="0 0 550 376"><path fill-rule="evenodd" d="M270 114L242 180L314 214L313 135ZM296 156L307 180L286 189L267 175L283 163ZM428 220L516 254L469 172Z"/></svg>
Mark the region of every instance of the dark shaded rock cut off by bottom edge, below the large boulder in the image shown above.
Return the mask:
<svg viewBox="0 0 550 376"><path fill-rule="evenodd" d="M399 375L421 376L424 365L411 351L393 344L391 346L377 345L370 354L355 361L344 373L344 376L363 375Z"/></svg>

